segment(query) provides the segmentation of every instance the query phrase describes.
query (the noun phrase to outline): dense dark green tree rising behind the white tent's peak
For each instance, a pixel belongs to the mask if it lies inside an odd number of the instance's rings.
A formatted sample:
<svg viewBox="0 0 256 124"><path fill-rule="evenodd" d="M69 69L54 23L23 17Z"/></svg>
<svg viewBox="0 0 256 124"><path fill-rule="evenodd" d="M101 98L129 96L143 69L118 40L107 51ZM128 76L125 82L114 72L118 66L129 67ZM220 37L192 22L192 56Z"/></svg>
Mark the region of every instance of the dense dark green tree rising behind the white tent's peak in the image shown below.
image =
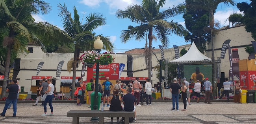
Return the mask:
<svg viewBox="0 0 256 124"><path fill-rule="evenodd" d="M186 0L186 13L183 15L186 28L189 33L185 36L186 42L194 42L198 50L201 53L206 51L206 43L210 42L210 32L204 29L209 26L209 13L206 10L195 10L191 5L194 4L194 0ZM200 36L205 36L198 38ZM193 39L195 38L195 39ZM189 40L192 39L192 40Z"/></svg>

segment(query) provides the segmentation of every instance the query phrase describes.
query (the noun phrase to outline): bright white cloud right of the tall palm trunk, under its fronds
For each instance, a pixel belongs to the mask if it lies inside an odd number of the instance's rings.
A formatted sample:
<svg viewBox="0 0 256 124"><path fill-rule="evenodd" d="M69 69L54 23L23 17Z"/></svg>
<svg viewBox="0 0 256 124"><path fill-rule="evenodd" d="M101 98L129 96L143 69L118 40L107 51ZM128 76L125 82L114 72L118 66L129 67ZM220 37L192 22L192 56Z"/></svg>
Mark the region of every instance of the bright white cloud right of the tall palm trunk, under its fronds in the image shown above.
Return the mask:
<svg viewBox="0 0 256 124"><path fill-rule="evenodd" d="M228 25L228 17L233 13L241 13L241 12L239 10L234 11L234 10L232 10L232 8L228 8L223 11L217 11L214 14L214 20L219 21L221 23L221 26L226 26L226 25ZM226 20L227 20L227 22L225 23Z"/></svg>

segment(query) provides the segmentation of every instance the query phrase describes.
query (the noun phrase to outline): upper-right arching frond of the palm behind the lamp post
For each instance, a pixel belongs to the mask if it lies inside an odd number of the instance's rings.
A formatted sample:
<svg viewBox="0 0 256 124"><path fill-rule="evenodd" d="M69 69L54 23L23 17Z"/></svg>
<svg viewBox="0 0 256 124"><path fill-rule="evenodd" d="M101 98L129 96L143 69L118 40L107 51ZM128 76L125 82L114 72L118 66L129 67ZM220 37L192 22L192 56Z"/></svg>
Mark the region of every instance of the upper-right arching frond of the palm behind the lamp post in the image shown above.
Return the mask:
<svg viewBox="0 0 256 124"><path fill-rule="evenodd" d="M93 31L99 26L105 25L106 18L100 13L91 13L89 16L85 17L85 24L82 26L83 31Z"/></svg>

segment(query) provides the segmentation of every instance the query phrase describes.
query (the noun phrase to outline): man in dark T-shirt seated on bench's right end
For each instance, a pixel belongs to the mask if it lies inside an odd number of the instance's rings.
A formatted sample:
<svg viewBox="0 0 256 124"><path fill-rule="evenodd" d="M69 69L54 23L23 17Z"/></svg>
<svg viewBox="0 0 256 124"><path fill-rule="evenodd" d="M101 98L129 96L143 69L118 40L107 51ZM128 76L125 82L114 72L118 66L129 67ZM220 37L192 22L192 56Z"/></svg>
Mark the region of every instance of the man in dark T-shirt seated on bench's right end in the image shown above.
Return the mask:
<svg viewBox="0 0 256 124"><path fill-rule="evenodd" d="M134 112L134 122L136 122L136 111L135 111L135 102L136 102L136 98L134 97L134 95L132 95L132 88L127 88L126 90L127 94L124 95L123 98L123 104L124 106L122 107L122 109L124 111L133 111Z"/></svg>

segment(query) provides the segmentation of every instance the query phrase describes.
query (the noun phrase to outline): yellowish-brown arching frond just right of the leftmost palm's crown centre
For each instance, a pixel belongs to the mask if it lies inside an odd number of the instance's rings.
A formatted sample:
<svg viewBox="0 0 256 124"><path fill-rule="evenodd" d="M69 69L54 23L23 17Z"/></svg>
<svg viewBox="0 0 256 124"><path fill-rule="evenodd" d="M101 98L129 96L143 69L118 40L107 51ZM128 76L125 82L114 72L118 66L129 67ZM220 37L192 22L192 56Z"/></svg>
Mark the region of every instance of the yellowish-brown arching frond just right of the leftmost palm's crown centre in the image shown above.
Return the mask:
<svg viewBox="0 0 256 124"><path fill-rule="evenodd" d="M19 33L20 36L27 38L28 41L32 40L30 31L19 22L11 21L7 22L6 25L11 27L16 33Z"/></svg>

